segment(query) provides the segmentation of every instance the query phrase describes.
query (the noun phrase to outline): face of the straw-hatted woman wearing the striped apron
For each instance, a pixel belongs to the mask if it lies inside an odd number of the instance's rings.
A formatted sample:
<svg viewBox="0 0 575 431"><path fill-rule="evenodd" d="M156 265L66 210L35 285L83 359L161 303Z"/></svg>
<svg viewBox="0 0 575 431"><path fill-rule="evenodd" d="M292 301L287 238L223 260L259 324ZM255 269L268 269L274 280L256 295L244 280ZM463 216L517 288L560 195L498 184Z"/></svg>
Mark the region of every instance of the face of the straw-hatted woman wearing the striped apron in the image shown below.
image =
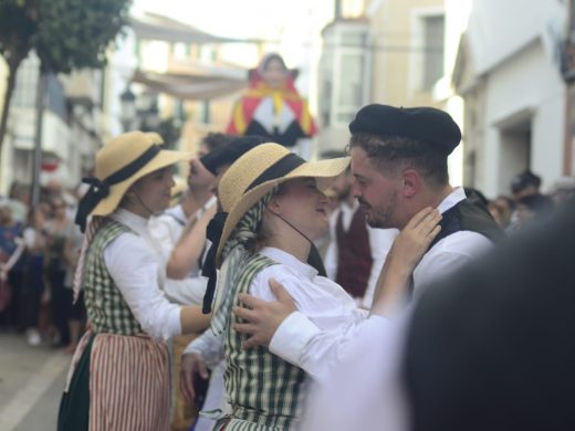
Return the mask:
<svg viewBox="0 0 575 431"><path fill-rule="evenodd" d="M169 207L171 188L176 185L171 168L168 166L155 170L142 177L130 187L129 191L137 193L144 206L153 212L160 212ZM133 199L133 201L137 202L137 199Z"/></svg>

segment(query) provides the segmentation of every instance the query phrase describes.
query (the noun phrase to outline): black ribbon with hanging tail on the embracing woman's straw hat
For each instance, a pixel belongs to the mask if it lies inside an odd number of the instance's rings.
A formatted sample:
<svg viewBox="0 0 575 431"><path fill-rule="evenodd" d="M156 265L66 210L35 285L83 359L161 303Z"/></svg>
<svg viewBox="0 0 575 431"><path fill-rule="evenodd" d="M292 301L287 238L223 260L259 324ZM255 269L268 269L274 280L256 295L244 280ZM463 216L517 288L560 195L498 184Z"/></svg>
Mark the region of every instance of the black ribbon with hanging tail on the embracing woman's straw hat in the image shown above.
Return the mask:
<svg viewBox="0 0 575 431"><path fill-rule="evenodd" d="M290 174L292 170L305 164L305 160L300 156L290 153L278 160L275 164L265 169L262 174L255 178L250 186L245 189L243 195L245 195L251 189L262 185L265 181L270 181L276 178L282 178ZM228 218L227 212L218 212L210 220L208 228L206 230L206 236L211 241L210 250L206 255L206 261L203 262L203 267L201 270L201 275L208 277L208 286L206 287L206 294L203 295L203 302L201 312L203 314L209 314L211 312L211 303L213 301L213 294L216 292L216 281L217 281L217 271L216 271L216 253L218 252L218 246L221 240L221 233L223 231L223 225L226 224L226 219Z"/></svg>

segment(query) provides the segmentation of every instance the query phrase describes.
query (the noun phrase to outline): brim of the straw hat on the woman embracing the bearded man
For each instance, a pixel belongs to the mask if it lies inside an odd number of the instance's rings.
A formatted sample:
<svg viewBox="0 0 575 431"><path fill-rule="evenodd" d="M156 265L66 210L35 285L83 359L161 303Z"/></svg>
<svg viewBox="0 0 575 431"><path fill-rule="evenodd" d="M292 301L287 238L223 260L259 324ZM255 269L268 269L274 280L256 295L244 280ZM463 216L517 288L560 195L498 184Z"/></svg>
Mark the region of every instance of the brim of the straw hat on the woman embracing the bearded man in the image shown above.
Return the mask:
<svg viewBox="0 0 575 431"><path fill-rule="evenodd" d="M330 188L330 186L332 186L335 178L339 174L342 174L348 166L348 157L320 161L307 161L299 166L284 177L262 182L258 187L254 187L245 195L243 195L243 197L238 201L238 203L233 206L233 208L230 210L226 219L226 223L223 224L220 243L216 253L217 267L221 266L221 253L233 229L241 220L241 218L245 214L245 212L248 212L248 210L251 207L253 207L262 197L264 197L265 193L268 193L270 190L281 185L282 182L296 178L315 178L317 189L324 191L327 188Z"/></svg>

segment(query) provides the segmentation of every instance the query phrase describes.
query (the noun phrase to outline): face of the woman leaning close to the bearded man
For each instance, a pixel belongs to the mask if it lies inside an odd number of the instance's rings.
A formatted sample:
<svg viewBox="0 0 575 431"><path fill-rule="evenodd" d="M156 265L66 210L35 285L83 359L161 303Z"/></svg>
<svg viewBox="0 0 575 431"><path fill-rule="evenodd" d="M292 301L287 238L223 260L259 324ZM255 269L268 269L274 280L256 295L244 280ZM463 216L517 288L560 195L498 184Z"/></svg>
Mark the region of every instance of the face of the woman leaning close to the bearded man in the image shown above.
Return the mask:
<svg viewBox="0 0 575 431"><path fill-rule="evenodd" d="M285 182L282 192L274 196L272 201L268 209L288 220L310 240L321 238L328 228L328 201L313 178Z"/></svg>

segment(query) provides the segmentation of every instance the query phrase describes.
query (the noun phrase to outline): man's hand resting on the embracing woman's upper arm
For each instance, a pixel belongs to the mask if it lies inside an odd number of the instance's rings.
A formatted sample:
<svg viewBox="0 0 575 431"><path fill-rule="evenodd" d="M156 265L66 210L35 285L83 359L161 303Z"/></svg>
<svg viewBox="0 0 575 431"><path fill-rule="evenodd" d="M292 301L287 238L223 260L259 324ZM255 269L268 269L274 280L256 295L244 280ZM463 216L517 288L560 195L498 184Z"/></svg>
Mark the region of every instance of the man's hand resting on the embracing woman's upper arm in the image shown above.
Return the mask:
<svg viewBox="0 0 575 431"><path fill-rule="evenodd" d="M234 307L233 313L248 323L236 324L233 328L251 335L242 344L243 348L268 346L281 323L297 309L288 291L273 278L270 280L270 288L278 301L269 303L243 293L238 296L248 308Z"/></svg>

